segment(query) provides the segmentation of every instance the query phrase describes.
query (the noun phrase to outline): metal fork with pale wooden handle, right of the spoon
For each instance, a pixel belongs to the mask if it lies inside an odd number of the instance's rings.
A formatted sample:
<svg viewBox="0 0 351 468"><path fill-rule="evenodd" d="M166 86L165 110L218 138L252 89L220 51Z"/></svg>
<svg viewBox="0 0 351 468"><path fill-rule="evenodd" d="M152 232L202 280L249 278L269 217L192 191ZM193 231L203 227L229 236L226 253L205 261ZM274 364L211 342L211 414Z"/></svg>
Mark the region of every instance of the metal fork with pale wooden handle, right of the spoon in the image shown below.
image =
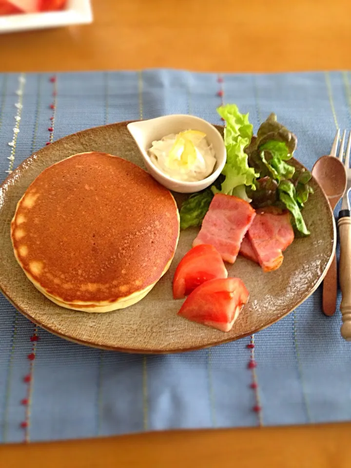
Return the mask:
<svg viewBox="0 0 351 468"><path fill-rule="evenodd" d="M339 159L343 162L343 150L346 130L340 144ZM337 145L337 140L334 142ZM341 210L338 218L339 238L340 238L340 261L339 261L339 283L342 294L340 311L342 313L343 324L341 326L341 336L351 341L351 212L349 192L351 189L351 169L350 169L350 149L351 131L345 152L344 167L347 176L347 187L342 198ZM333 151L334 150L334 151ZM331 154L335 156L336 147L332 148Z"/></svg>

